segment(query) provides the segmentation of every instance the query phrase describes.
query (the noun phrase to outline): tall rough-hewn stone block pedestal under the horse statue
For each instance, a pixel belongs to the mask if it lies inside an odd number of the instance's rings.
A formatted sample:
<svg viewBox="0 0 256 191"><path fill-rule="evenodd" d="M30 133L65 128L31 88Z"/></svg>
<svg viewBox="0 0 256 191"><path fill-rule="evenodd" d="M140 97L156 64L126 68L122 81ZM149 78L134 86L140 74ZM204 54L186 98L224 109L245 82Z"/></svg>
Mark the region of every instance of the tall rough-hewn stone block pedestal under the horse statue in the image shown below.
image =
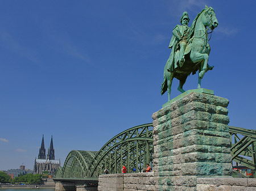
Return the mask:
<svg viewBox="0 0 256 191"><path fill-rule="evenodd" d="M195 190L197 177L232 174L229 100L200 90L185 92L152 114L159 190Z"/></svg>

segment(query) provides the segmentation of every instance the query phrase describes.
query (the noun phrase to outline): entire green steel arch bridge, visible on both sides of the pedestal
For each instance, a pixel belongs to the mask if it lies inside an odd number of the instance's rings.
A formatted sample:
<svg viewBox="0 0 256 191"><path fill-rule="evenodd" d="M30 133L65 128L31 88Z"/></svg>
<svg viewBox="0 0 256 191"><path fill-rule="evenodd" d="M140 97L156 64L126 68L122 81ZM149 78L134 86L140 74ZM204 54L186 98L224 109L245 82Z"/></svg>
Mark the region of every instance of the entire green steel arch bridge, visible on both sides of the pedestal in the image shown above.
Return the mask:
<svg viewBox="0 0 256 191"><path fill-rule="evenodd" d="M55 174L55 181L97 181L107 167L109 173L121 173L125 164L127 173L141 172L151 163L153 126L144 124L127 129L110 139L100 151L69 152L63 167ZM256 131L229 126L231 154L234 163L256 170Z"/></svg>

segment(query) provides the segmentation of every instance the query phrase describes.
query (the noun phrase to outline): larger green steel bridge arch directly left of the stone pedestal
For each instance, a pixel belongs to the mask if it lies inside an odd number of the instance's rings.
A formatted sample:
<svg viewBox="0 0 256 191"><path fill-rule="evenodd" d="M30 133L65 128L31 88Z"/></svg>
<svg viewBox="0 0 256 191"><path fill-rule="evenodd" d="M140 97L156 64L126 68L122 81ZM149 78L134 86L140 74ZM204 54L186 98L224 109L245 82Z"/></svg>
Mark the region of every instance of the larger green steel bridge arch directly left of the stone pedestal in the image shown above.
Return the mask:
<svg viewBox="0 0 256 191"><path fill-rule="evenodd" d="M109 173L121 173L123 164L127 173L133 172L134 168L135 172L146 168L146 163L152 162L152 130L152 124L144 124L115 135L97 152L86 176L98 177L105 167Z"/></svg>

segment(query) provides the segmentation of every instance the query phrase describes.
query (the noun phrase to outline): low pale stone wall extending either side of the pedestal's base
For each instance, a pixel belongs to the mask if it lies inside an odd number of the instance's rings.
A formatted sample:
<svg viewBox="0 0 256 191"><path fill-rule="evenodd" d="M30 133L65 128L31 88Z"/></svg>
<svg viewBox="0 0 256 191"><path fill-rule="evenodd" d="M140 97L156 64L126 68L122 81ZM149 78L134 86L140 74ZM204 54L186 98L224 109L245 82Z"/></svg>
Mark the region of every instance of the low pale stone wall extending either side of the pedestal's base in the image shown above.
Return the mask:
<svg viewBox="0 0 256 191"><path fill-rule="evenodd" d="M99 177L99 191L159 191L159 176L155 173L129 173L101 175ZM183 185L183 181L176 181L176 186ZM162 190L193 190L193 191L255 191L256 179L238 179L225 177L197 177L196 185L187 188L169 186Z"/></svg>

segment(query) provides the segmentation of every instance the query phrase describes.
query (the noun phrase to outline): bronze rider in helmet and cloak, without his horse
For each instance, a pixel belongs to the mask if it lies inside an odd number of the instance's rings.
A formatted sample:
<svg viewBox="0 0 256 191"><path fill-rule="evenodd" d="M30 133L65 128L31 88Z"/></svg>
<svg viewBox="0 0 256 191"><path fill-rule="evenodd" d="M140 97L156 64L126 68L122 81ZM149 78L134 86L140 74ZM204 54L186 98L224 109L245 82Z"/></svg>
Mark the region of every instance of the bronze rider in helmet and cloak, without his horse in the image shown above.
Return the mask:
<svg viewBox="0 0 256 191"><path fill-rule="evenodd" d="M172 49L172 53L169 58L169 61L171 61L171 64L169 65L170 69L168 69L169 71L173 71L173 69L177 67L176 63L174 64L174 56L179 47L179 66L182 67L185 62L184 52L187 45L188 33L190 31L188 22L188 12L185 11L180 18L181 26L177 24L172 31L173 36L169 45L169 48Z"/></svg>

